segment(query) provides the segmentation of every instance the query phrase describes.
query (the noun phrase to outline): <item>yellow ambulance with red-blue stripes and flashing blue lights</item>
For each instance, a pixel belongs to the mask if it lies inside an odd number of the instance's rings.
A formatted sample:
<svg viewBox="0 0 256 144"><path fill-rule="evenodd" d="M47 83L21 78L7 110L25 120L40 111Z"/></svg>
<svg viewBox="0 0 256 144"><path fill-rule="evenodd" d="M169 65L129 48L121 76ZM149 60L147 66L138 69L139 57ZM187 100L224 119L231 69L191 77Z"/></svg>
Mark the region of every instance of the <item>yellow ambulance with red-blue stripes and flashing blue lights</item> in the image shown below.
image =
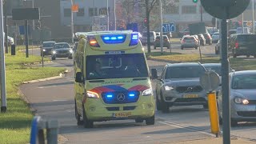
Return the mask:
<svg viewBox="0 0 256 144"><path fill-rule="evenodd" d="M154 125L155 101L138 33L80 33L74 77L78 125L122 119Z"/></svg>

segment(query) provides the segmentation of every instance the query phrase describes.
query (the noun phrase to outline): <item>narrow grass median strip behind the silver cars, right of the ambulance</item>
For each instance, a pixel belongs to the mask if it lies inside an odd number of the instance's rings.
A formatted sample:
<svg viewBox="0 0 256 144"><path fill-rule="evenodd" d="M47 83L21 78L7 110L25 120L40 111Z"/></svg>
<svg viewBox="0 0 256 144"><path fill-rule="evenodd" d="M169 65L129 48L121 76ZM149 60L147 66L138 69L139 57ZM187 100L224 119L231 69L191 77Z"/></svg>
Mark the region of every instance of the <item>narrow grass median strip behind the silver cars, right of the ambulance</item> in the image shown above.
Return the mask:
<svg viewBox="0 0 256 144"><path fill-rule="evenodd" d="M198 54L178 54L178 53L151 53L146 54L148 59L162 62L201 62ZM221 62L218 57L206 57L202 55L202 63L218 63ZM256 70L255 58L230 58L230 66L234 70Z"/></svg>

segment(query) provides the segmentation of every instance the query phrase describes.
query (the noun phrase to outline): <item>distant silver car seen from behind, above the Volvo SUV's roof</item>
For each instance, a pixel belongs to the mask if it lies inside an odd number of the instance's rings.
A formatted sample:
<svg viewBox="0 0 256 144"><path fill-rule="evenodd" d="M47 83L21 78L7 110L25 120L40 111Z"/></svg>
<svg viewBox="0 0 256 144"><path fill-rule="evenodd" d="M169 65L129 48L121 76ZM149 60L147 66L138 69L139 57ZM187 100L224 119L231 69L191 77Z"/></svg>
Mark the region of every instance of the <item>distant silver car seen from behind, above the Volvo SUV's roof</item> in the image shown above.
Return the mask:
<svg viewBox="0 0 256 144"><path fill-rule="evenodd" d="M195 48L198 49L198 40L194 36L185 35L182 38L181 49Z"/></svg>

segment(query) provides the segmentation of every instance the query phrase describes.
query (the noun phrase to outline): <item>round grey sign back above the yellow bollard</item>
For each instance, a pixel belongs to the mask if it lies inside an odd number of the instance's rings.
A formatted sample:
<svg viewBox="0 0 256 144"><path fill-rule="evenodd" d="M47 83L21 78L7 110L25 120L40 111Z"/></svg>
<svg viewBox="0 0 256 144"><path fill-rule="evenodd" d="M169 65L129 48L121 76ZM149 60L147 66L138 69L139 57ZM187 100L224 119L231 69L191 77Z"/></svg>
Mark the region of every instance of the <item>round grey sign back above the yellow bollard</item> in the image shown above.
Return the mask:
<svg viewBox="0 0 256 144"><path fill-rule="evenodd" d="M200 77L200 84L204 90L209 92L216 90L219 86L220 80L217 73L214 71L206 71L205 74L202 74Z"/></svg>

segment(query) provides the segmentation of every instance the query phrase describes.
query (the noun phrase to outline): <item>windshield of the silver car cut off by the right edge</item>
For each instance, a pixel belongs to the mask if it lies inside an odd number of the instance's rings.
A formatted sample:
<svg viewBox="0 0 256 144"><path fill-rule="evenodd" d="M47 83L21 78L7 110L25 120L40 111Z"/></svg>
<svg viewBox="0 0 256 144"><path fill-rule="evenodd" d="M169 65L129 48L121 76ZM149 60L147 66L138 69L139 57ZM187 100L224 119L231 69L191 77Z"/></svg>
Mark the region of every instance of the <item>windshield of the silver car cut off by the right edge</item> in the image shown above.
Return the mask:
<svg viewBox="0 0 256 144"><path fill-rule="evenodd" d="M232 89L256 89L256 74L234 75L232 79Z"/></svg>

